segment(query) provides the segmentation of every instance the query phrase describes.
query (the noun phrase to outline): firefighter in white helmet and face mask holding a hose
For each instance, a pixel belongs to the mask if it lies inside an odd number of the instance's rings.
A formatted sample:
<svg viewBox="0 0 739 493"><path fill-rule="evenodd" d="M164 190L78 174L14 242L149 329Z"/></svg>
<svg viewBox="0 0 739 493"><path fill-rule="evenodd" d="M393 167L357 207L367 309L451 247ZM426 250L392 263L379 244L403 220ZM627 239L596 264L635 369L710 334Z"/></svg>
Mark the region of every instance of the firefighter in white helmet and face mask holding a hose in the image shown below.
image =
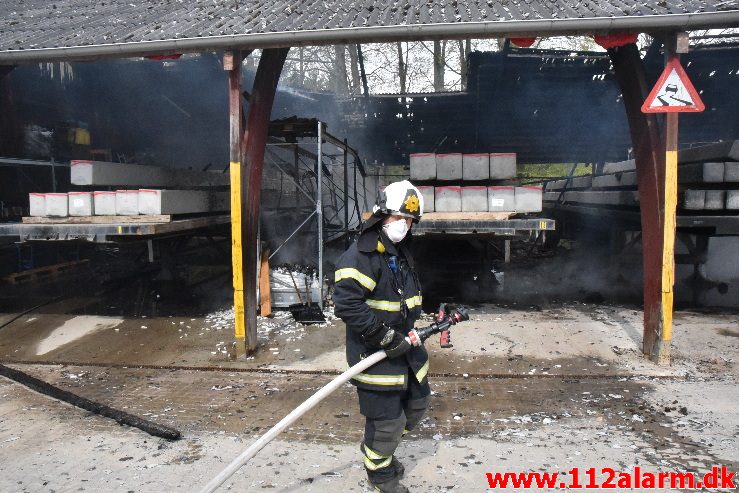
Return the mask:
<svg viewBox="0 0 739 493"><path fill-rule="evenodd" d="M359 238L336 263L336 315L346 323L349 366L384 349L387 358L352 379L365 417L360 445L371 485L407 492L404 467L393 455L402 436L421 421L429 403L428 353L406 336L421 315L421 287L408 249L423 215L423 196L409 181L378 194Z"/></svg>

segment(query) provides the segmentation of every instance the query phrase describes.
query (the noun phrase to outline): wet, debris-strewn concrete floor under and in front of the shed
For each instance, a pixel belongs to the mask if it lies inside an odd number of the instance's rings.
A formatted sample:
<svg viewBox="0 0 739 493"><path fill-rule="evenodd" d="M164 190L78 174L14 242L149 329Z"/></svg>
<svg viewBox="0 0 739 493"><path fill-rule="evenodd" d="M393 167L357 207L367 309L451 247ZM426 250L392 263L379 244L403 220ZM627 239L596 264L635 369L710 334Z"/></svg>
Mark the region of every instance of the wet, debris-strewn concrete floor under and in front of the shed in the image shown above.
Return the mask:
<svg viewBox="0 0 739 493"><path fill-rule="evenodd" d="M246 358L232 346L228 278L194 285L106 291L77 279L0 292L3 364L183 434L153 438L0 378L0 491L196 491L346 368L340 320L260 319L260 350ZM453 348L427 343L434 395L398 450L405 484L483 491L488 472L738 470L739 314L677 312L667 368L641 356L641 320L636 307L546 296L473 306ZM227 485L367 491L362 429L346 385Z"/></svg>

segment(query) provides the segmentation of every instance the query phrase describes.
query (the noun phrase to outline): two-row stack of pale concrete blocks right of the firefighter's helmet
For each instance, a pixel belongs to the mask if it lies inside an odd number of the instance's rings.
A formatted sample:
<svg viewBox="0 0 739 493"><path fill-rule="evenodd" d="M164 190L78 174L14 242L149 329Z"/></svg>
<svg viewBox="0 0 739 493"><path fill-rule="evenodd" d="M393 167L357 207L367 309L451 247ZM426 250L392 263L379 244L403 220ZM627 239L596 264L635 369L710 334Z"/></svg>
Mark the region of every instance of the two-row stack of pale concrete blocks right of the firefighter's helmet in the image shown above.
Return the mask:
<svg viewBox="0 0 739 493"><path fill-rule="evenodd" d="M426 212L540 212L540 186L515 185L516 154L410 155L411 182Z"/></svg>

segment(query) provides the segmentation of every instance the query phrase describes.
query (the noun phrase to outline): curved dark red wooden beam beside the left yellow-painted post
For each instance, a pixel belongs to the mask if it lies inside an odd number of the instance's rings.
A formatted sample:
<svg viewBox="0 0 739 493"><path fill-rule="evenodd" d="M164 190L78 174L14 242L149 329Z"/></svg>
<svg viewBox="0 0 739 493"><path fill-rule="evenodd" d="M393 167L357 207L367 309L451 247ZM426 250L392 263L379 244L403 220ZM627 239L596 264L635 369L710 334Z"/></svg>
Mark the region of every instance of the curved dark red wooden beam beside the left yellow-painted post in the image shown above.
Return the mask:
<svg viewBox="0 0 739 493"><path fill-rule="evenodd" d="M254 87L249 98L249 116L246 121L244 137L241 141L241 155L244 156L245 169L241 175L241 187L246 192L242 197L244 215L242 217L244 250L244 298L246 325L246 351L257 347L257 233L259 231L259 201L262 192L262 168L264 151L269 131L269 118L275 99L277 82L289 48L270 48L262 50L259 59Z"/></svg>

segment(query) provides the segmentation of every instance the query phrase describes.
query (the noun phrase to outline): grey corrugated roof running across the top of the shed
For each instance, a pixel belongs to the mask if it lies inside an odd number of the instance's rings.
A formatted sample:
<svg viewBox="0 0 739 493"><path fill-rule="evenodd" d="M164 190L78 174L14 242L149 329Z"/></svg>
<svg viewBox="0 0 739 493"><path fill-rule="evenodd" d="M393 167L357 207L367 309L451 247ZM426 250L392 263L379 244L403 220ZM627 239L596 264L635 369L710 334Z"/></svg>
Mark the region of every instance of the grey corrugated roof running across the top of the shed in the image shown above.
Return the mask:
<svg viewBox="0 0 739 493"><path fill-rule="evenodd" d="M519 23L521 32L521 22L537 20L739 14L739 0L3 0L0 9L2 59L17 50L356 27L491 23L498 32Z"/></svg>

